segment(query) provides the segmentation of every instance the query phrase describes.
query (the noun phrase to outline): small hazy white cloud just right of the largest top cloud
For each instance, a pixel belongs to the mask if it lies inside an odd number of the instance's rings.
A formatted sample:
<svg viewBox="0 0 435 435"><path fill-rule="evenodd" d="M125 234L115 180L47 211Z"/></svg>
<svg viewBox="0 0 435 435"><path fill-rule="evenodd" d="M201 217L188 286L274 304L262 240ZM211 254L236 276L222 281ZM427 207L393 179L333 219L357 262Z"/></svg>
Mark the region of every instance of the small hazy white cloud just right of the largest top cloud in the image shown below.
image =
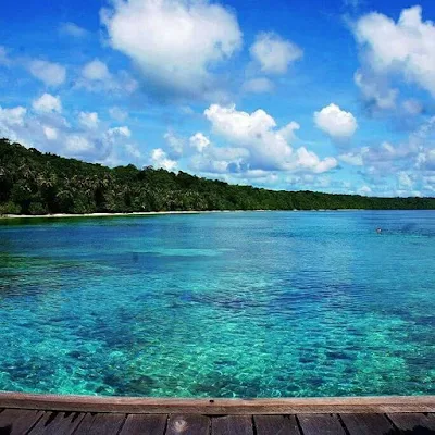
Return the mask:
<svg viewBox="0 0 435 435"><path fill-rule="evenodd" d="M249 51L260 64L261 71L270 74L286 73L288 65L303 54L303 51L294 42L266 32L257 35L256 42Z"/></svg>

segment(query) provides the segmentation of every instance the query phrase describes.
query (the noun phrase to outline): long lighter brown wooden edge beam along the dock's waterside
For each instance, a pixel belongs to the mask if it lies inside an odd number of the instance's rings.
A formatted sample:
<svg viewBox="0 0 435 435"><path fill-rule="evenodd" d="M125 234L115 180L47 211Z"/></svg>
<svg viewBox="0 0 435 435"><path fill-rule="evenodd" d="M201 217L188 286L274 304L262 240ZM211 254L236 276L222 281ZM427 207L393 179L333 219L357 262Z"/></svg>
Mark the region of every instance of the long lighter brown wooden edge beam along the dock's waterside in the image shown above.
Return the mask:
<svg viewBox="0 0 435 435"><path fill-rule="evenodd" d="M0 393L0 408L47 411L117 412L124 414L199 413L207 415L435 412L435 396L287 399L161 399Z"/></svg>

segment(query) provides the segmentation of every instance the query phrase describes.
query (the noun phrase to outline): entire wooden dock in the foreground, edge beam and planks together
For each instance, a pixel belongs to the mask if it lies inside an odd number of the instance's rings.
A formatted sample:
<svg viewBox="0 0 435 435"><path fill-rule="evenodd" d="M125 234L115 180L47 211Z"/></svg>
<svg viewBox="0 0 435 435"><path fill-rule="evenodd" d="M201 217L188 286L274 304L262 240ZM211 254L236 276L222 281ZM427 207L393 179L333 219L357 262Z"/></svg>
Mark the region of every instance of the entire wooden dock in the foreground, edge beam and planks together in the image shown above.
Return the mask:
<svg viewBox="0 0 435 435"><path fill-rule="evenodd" d="M435 396L190 400L0 393L0 435L435 434Z"/></svg>

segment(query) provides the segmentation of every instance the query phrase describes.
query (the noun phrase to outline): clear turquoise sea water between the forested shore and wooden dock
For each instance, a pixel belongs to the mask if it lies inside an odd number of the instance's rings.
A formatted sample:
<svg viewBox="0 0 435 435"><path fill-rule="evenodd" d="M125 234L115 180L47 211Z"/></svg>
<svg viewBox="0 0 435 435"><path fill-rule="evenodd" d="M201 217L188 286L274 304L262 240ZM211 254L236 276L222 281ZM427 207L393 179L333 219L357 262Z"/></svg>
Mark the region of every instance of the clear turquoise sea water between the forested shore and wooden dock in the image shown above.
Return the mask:
<svg viewBox="0 0 435 435"><path fill-rule="evenodd" d="M431 211L3 221L0 389L435 394L434 261Z"/></svg>

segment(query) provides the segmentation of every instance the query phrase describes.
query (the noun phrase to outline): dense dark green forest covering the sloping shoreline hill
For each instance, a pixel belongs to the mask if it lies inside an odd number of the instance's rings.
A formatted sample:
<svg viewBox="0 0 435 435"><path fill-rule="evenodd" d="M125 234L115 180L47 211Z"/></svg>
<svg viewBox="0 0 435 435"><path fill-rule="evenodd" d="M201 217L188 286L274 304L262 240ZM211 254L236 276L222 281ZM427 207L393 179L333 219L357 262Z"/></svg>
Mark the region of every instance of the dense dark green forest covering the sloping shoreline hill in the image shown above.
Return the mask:
<svg viewBox="0 0 435 435"><path fill-rule="evenodd" d="M435 198L274 191L182 171L110 169L0 139L0 214L254 209L435 209Z"/></svg>

